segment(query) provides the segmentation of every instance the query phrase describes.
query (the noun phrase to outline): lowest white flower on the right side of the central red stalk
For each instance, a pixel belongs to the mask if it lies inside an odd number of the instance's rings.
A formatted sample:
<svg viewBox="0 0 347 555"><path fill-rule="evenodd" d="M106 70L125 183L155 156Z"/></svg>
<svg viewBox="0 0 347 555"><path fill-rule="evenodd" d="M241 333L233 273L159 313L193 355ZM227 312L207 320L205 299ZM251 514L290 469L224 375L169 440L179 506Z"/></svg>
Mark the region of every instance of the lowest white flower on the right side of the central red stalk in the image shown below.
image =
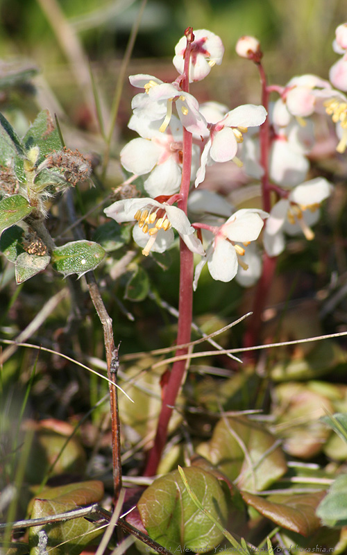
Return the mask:
<svg viewBox="0 0 347 555"><path fill-rule="evenodd" d="M245 249L237 243L247 245L250 241L255 241L264 225L262 218L266 216L268 214L262 210L238 210L226 223L214 230L214 240L208 248L206 257L196 266L194 290L206 262L214 280L230 282L235 278L239 264L243 264L238 257L242 257L245 253Z"/></svg>

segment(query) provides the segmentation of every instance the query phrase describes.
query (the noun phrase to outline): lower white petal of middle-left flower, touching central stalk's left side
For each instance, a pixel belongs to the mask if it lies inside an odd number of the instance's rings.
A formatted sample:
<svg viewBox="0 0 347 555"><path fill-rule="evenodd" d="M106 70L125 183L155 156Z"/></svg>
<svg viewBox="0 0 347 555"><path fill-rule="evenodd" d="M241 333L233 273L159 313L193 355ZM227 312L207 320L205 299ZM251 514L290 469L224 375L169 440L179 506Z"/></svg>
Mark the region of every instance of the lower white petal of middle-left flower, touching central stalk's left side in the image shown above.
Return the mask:
<svg viewBox="0 0 347 555"><path fill-rule="evenodd" d="M158 164L144 182L144 189L153 198L160 195L171 195L180 189L182 171L173 157L164 164Z"/></svg>

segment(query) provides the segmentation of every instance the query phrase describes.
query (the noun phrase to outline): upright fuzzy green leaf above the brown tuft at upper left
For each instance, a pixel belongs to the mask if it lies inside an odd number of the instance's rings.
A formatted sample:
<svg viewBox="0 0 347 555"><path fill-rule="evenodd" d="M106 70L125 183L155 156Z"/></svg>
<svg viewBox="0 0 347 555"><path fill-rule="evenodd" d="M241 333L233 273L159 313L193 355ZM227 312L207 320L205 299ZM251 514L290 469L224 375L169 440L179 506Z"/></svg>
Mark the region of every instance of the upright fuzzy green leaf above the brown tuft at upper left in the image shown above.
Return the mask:
<svg viewBox="0 0 347 555"><path fill-rule="evenodd" d="M53 119L48 110L42 110L42 112L37 115L32 126L24 136L23 143L26 151L33 146L38 146L40 148L37 164L40 164L47 154L52 151L59 151L62 148L58 130L54 126Z"/></svg>

